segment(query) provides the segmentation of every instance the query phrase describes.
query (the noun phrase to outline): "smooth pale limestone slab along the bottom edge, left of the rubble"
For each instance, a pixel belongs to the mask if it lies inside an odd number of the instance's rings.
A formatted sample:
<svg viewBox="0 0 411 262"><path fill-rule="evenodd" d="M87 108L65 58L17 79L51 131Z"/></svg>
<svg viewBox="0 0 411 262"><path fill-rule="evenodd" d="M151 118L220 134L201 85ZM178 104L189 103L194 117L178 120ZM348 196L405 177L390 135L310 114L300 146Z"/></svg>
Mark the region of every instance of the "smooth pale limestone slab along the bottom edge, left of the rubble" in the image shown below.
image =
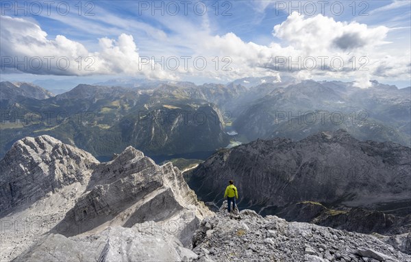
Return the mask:
<svg viewBox="0 0 411 262"><path fill-rule="evenodd" d="M90 236L64 237L50 234L14 261L182 261L197 254L178 239L140 225L114 226Z"/></svg>

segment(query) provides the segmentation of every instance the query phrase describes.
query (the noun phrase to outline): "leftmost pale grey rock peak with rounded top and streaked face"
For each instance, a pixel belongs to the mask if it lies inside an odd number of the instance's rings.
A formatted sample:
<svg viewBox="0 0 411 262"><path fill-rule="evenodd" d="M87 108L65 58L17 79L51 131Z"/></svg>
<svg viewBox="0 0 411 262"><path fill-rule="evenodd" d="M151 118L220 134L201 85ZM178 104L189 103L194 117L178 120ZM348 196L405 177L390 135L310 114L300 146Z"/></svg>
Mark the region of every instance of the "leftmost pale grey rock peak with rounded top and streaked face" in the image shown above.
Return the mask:
<svg viewBox="0 0 411 262"><path fill-rule="evenodd" d="M66 185L86 185L98 164L90 153L49 135L18 140L0 160L0 218Z"/></svg>

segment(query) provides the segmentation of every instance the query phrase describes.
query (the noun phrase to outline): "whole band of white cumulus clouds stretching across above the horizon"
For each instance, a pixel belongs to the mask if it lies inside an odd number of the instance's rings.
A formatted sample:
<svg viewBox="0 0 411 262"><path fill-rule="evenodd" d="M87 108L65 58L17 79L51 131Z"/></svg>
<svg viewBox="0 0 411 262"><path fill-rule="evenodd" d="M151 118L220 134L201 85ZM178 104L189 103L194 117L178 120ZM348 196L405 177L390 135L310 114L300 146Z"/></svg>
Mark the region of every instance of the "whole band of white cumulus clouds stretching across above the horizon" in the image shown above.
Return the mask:
<svg viewBox="0 0 411 262"><path fill-rule="evenodd" d="M210 30L198 31L194 42L192 36L187 36L187 42L195 44L192 49L184 49L184 55L192 51L190 59L184 60L176 53L171 66L174 62L179 66L170 69L164 68L168 63L161 61L162 57L153 60L151 55L140 54L138 39L128 34L121 34L117 39L100 38L99 50L88 51L83 44L65 36L48 39L47 33L32 21L1 16L1 67L34 74L125 74L161 79L184 79L186 75L236 79L280 73L301 79L316 76L356 79L356 86L366 88L371 84L370 79L409 77L410 51L406 51L406 55L384 53L387 33L388 28L384 26L368 27L357 22L334 21L321 14L305 17L294 12L273 27L273 36L280 41L268 45L245 42L234 33L215 36ZM164 44L179 41L164 37ZM15 63L23 61L24 57L46 56L56 57L49 68L23 68ZM3 60L3 57L12 57L12 61ZM57 57L66 57L69 66L61 70L55 63ZM79 64L79 57L82 57L82 64ZM196 57L204 57L207 66L202 67L202 59L196 63ZM64 66L65 61L61 62ZM183 62L188 64L183 65ZM86 70L87 66L90 70Z"/></svg>

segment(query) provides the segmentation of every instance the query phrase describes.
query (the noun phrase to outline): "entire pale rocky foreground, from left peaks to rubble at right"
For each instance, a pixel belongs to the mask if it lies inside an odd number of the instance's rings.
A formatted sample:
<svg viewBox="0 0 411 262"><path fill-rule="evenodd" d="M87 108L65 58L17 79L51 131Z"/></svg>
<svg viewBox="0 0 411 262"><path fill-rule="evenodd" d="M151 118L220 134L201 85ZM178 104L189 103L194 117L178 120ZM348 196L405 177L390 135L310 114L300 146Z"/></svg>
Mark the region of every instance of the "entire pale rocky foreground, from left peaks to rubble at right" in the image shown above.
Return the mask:
<svg viewBox="0 0 411 262"><path fill-rule="evenodd" d="M366 235L249 209L227 213L227 202L212 212L172 163L158 166L132 146L100 163L49 135L25 137L0 166L2 260L411 259L409 233Z"/></svg>

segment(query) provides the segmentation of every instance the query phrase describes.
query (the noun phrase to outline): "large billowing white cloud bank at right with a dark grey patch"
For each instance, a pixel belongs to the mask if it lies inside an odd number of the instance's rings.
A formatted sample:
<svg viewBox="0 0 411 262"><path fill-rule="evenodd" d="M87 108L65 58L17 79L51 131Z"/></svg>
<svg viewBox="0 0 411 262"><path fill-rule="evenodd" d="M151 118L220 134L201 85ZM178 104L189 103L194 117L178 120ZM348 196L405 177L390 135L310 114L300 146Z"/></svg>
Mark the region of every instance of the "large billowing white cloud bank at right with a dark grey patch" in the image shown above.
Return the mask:
<svg viewBox="0 0 411 262"><path fill-rule="evenodd" d="M377 75L409 75L409 56L392 57L381 51L387 44L387 33L384 26L370 28L356 22L334 21L321 14L306 18L293 12L273 28L279 43L258 45L229 33L210 38L203 47L208 52L216 49L220 55L233 57L234 68L248 74L280 72L301 79L349 77L356 79L359 88L367 88L371 85L369 79Z"/></svg>

